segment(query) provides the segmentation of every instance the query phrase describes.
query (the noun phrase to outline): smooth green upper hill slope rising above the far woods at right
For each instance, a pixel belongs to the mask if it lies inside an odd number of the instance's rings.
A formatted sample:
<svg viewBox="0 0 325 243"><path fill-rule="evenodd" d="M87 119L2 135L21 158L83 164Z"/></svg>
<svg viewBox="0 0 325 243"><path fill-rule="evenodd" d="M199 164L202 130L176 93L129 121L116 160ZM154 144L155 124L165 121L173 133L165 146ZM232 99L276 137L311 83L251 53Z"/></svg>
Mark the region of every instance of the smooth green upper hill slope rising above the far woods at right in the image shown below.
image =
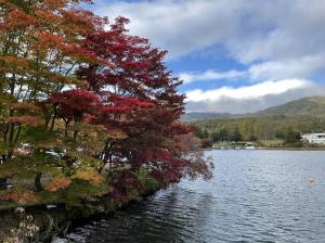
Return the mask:
<svg viewBox="0 0 325 243"><path fill-rule="evenodd" d="M325 97L310 97L295 100L282 105L273 106L261 112L256 116L323 116L325 115Z"/></svg>

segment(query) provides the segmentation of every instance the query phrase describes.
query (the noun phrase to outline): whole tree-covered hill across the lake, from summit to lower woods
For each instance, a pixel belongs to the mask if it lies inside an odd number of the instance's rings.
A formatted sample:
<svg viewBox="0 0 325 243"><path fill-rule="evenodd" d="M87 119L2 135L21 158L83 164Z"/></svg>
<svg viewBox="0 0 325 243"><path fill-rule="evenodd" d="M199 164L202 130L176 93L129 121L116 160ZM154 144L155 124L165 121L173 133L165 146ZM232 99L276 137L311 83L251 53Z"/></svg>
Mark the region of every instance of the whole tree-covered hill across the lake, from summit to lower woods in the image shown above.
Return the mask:
<svg viewBox="0 0 325 243"><path fill-rule="evenodd" d="M192 122L213 141L281 139L294 130L300 135L325 131L325 97L312 97L274 106L252 114Z"/></svg>

